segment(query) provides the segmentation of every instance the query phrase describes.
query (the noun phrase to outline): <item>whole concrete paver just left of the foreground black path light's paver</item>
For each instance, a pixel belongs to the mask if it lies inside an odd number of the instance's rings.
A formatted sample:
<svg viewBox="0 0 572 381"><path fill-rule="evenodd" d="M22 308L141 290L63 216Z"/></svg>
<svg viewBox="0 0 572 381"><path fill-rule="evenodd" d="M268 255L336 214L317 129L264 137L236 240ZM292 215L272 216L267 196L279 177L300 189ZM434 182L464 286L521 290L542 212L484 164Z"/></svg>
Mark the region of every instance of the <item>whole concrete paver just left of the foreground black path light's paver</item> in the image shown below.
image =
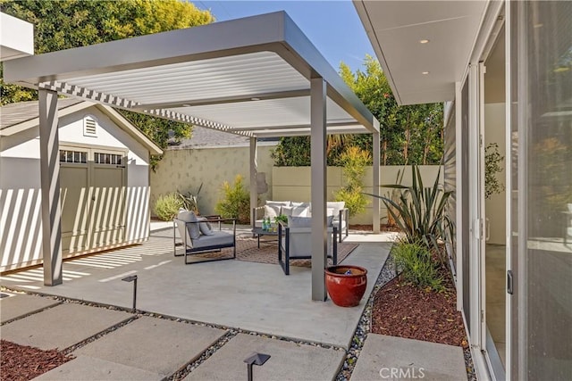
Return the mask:
<svg viewBox="0 0 572 381"><path fill-rule="evenodd" d="M141 317L72 352L169 376L226 331L166 319Z"/></svg>

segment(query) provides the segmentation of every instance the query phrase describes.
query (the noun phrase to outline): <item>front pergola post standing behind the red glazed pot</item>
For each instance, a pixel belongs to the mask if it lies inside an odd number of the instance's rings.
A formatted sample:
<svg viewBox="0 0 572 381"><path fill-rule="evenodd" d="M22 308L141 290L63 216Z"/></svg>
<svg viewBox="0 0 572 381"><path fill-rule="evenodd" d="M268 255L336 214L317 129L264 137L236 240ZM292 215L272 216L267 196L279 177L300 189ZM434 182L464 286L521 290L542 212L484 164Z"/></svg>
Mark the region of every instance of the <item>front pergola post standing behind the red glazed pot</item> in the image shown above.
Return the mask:
<svg viewBox="0 0 572 381"><path fill-rule="evenodd" d="M328 294L325 289L325 264L327 255L326 237L326 81L311 79L310 124L312 165L312 300L324 302Z"/></svg>

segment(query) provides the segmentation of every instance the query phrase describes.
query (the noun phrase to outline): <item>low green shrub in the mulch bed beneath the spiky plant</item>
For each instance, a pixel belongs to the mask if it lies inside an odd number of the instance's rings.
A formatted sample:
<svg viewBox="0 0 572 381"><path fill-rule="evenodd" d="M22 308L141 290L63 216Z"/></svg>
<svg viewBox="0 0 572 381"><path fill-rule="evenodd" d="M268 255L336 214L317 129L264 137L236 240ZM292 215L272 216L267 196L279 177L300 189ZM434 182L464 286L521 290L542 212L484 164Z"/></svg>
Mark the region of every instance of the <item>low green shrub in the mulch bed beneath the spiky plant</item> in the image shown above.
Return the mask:
<svg viewBox="0 0 572 381"><path fill-rule="evenodd" d="M431 252L422 242L399 242L391 248L391 253L401 276L420 288L430 287L442 291L442 277L439 264L433 261Z"/></svg>

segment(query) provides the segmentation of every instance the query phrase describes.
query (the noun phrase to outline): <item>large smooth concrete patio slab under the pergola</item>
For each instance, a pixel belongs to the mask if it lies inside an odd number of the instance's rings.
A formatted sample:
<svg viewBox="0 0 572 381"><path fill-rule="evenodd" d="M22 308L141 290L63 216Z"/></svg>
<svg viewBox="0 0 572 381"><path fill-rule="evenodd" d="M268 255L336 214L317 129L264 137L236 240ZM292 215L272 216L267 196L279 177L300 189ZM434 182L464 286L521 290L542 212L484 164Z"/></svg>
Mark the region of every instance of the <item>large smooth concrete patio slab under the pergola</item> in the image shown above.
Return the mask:
<svg viewBox="0 0 572 381"><path fill-rule="evenodd" d="M278 265L247 261L185 265L173 257L172 228L164 227L157 223L163 229L146 244L65 261L63 285L44 286L41 268L6 275L0 285L130 309L133 286L122 277L137 274L139 311L348 348L391 247L391 236L348 238L373 242L361 242L346 259L368 269L366 296L358 307L341 308L311 300L308 268L284 276Z"/></svg>

